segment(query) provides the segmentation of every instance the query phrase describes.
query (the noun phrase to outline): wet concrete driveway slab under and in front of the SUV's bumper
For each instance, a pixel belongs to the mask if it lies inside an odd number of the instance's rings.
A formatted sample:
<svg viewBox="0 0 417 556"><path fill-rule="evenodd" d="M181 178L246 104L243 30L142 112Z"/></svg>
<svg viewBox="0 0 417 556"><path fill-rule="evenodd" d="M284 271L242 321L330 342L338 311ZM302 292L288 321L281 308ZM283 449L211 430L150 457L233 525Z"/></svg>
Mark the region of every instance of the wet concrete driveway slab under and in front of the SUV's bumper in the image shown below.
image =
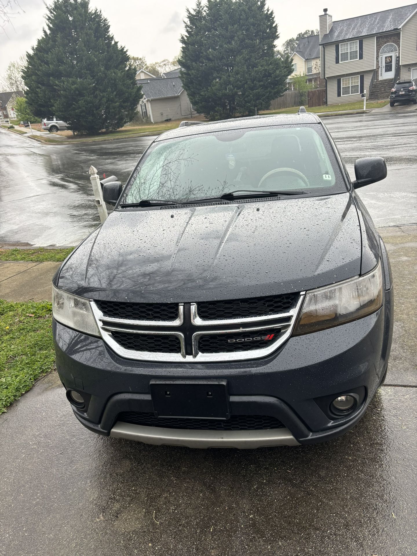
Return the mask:
<svg viewBox="0 0 417 556"><path fill-rule="evenodd" d="M190 450L84 429L56 374L0 419L3 555L417 553L417 389L340 439Z"/></svg>

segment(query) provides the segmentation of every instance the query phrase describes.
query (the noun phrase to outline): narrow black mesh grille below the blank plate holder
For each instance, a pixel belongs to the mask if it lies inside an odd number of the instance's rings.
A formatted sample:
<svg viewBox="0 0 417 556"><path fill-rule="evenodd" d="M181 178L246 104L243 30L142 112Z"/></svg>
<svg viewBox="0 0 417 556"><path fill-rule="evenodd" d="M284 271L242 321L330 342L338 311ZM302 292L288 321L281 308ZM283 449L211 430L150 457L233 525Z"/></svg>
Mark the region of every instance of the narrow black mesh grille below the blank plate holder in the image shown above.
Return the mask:
<svg viewBox="0 0 417 556"><path fill-rule="evenodd" d="M117 420L134 425L188 430L269 430L282 429L285 426L279 419L269 415L232 415L230 419L213 420L155 417L153 413L123 411L118 414Z"/></svg>

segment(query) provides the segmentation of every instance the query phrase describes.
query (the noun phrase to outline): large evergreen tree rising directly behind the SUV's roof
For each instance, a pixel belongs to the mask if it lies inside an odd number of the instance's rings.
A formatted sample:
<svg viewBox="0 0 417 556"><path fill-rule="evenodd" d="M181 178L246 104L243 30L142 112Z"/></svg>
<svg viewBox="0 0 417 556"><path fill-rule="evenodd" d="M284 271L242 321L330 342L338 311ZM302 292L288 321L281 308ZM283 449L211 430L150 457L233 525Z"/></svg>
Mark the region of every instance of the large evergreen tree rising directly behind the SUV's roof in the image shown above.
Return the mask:
<svg viewBox="0 0 417 556"><path fill-rule="evenodd" d="M187 9L178 60L197 112L210 120L254 115L286 90L289 57L275 56L279 37L266 0L197 0Z"/></svg>

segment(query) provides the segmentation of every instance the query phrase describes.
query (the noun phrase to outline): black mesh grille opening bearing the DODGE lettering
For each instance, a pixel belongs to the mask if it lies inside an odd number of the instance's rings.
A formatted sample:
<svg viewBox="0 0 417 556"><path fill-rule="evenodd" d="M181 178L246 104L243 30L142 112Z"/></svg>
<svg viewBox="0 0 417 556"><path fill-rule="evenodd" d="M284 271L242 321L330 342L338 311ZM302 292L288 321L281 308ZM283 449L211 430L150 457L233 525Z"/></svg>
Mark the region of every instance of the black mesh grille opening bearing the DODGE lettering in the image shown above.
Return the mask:
<svg viewBox="0 0 417 556"><path fill-rule="evenodd" d="M242 332L239 334L210 334L201 336L198 351L201 353L226 353L230 351L246 351L262 349L268 342L275 341L281 330L266 330L259 333Z"/></svg>

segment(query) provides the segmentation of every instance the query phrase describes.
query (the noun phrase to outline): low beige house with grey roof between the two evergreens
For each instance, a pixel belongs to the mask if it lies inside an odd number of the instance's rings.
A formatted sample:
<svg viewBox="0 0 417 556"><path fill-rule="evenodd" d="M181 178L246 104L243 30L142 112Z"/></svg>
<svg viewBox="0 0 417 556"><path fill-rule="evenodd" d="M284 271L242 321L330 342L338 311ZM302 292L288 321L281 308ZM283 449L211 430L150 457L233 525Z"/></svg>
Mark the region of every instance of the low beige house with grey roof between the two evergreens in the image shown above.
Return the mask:
<svg viewBox="0 0 417 556"><path fill-rule="evenodd" d="M143 98L138 105L140 117L152 123L191 118L196 111L182 87L180 68L166 72L162 77L138 78ZM138 72L140 75L140 72Z"/></svg>

